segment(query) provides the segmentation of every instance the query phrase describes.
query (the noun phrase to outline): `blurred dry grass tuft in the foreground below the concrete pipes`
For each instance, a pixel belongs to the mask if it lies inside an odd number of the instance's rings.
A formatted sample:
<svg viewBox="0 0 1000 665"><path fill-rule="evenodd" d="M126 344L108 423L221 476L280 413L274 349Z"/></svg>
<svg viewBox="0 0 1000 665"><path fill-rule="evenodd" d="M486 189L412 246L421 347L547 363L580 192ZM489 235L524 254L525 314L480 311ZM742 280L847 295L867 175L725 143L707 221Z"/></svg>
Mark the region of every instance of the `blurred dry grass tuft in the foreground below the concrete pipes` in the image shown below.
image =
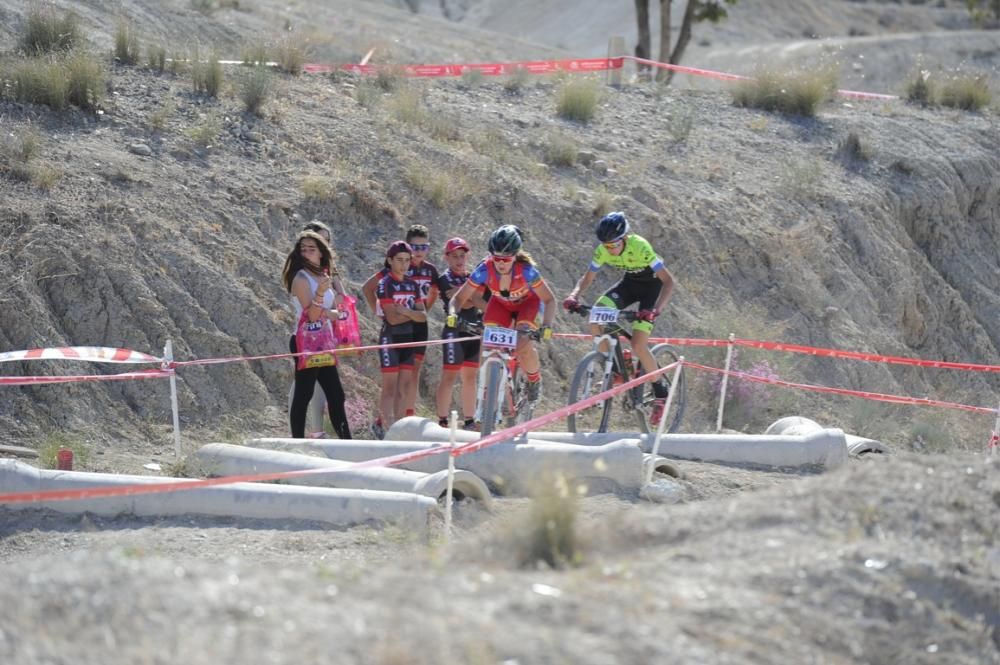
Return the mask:
<svg viewBox="0 0 1000 665"><path fill-rule="evenodd" d="M576 532L577 495L578 488L562 475L548 476L539 484L517 536L519 565L534 567L544 562L565 568L582 561Z"/></svg>

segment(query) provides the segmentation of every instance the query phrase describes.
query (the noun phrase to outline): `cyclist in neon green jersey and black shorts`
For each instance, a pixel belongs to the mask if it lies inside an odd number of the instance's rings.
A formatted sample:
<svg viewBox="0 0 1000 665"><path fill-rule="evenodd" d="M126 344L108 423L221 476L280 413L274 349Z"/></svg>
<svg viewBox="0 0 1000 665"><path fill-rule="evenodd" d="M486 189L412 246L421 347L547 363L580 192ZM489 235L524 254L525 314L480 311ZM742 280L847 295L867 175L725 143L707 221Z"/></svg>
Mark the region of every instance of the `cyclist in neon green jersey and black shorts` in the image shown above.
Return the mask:
<svg viewBox="0 0 1000 665"><path fill-rule="evenodd" d="M645 238L629 233L628 219L621 212L613 212L601 219L595 229L601 244L594 249L587 272L577 281L576 286L563 301L563 307L574 311L579 306L580 294L590 287L600 269L609 265L625 271L625 276L617 284L597 299L601 307L625 309L632 303L639 303L639 317L632 326L632 352L639 359L642 369L652 372L657 369L656 360L649 352L649 335L653 332L653 322L663 311L670 294L674 290L674 278L663 265L652 245ZM601 334L599 325L592 325L591 333ZM667 386L653 383L656 403L650 414L653 422L660 419L667 397Z"/></svg>

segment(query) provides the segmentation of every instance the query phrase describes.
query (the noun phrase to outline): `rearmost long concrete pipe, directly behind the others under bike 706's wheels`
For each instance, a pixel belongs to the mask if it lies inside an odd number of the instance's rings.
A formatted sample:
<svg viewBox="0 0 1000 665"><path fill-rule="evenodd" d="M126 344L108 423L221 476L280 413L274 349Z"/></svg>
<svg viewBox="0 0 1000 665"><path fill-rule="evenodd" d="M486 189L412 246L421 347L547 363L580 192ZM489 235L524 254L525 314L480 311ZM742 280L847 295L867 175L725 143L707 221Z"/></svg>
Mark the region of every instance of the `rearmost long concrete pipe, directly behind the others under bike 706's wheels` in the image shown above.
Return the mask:
<svg viewBox="0 0 1000 665"><path fill-rule="evenodd" d="M418 439L438 441L448 430L426 418L403 418L386 434L397 438L404 434ZM477 436L474 432L460 432L460 436ZM638 440L642 450L652 452L654 434L639 432L618 433L566 433L529 432L529 441L581 446L601 446L612 441ZM776 467L823 466L835 468L847 460L847 442L839 429L819 428L800 436L773 436L759 434L664 434L658 453L665 457L697 459L731 464L760 464Z"/></svg>

